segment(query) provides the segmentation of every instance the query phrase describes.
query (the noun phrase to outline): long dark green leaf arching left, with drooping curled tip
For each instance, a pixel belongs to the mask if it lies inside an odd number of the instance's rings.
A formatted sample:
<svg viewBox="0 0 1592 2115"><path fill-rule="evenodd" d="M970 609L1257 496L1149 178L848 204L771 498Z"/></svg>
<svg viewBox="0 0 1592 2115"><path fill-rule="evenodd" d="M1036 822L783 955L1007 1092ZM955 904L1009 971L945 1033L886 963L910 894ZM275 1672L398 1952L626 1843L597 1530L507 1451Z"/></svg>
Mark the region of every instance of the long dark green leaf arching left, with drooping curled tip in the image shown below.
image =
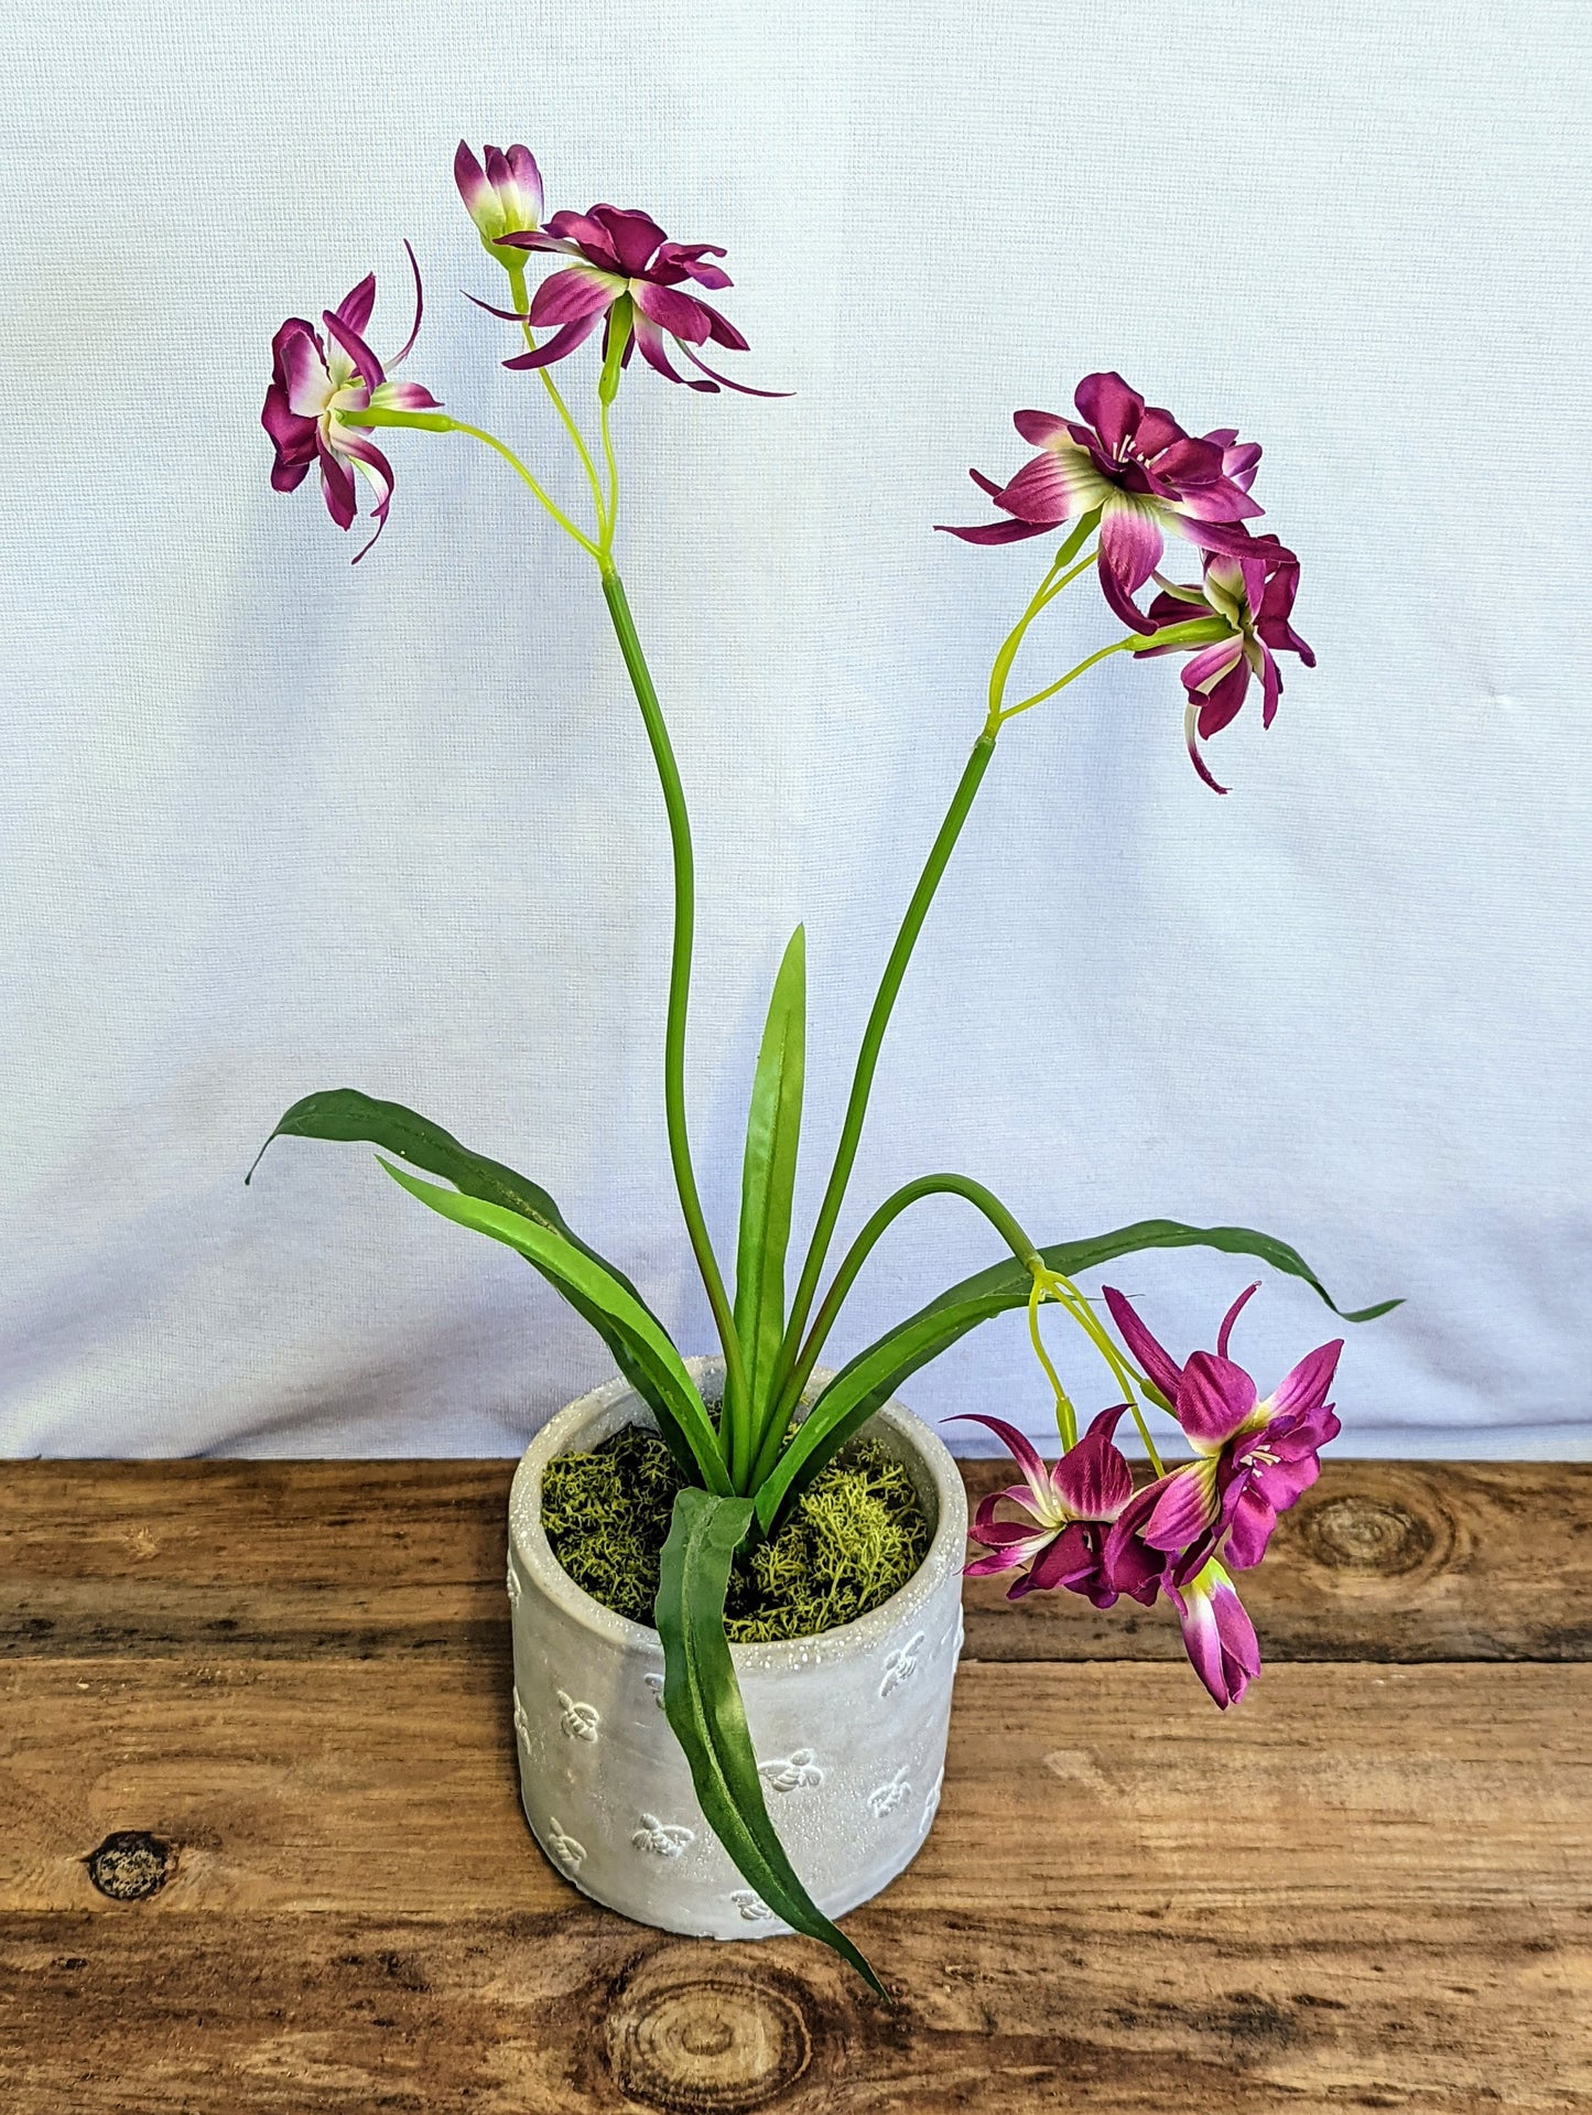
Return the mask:
<svg viewBox="0 0 1592 2115"><path fill-rule="evenodd" d="M442 1176L444 1182L452 1182L465 1193L465 1197L480 1197L482 1203L507 1206L510 1212L520 1212L524 1218L535 1220L550 1233L562 1235L573 1248L579 1248L584 1256L600 1265L609 1277L624 1286L624 1290L636 1301L636 1305L647 1309L641 1292L630 1284L617 1265L600 1256L588 1242L575 1233L564 1214L558 1210L554 1199L533 1182L529 1176L516 1174L514 1167L505 1167L503 1161L486 1159L484 1153L471 1153L469 1146L459 1144L452 1132L444 1132L440 1123L431 1123L429 1117L416 1115L412 1108L404 1108L402 1102L381 1102L370 1093L359 1093L357 1087L326 1087L319 1093L307 1093L302 1102L283 1115L271 1138L254 1157L254 1167L266 1155L271 1140L275 1138L334 1138L334 1140L366 1140L372 1146L385 1146L389 1153L397 1153L400 1159L410 1161L414 1167L425 1167L427 1174ZM245 1182L254 1180L254 1167L249 1167ZM535 1258L529 1258L535 1269L541 1269ZM693 1455L685 1447L681 1434L668 1419L668 1404L653 1387L647 1371L636 1364L630 1356L630 1347L619 1328L609 1322L600 1307L594 1307L571 1286L558 1284L548 1271L543 1277L558 1286L558 1292L569 1301L581 1322L588 1322L603 1343L613 1354L619 1373L630 1381L636 1394L647 1402L658 1417L658 1428L670 1442L685 1474L693 1474ZM647 1309L651 1313L651 1309ZM653 1320L658 1320L653 1316ZM658 1324L662 1330L662 1322Z"/></svg>

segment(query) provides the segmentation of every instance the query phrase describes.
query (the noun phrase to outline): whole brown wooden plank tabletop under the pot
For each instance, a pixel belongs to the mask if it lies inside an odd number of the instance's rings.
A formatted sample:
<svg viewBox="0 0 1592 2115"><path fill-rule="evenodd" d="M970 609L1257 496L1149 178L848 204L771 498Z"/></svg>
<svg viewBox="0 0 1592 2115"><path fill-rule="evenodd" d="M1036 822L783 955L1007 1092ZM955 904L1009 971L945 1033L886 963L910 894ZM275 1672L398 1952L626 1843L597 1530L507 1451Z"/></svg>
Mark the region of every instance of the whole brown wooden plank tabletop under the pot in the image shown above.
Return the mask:
<svg viewBox="0 0 1592 2115"><path fill-rule="evenodd" d="M510 1468L0 1468L8 2115L1592 2109L1592 1466L1328 1466L1226 1717L1163 1612L970 1586L894 2011L541 1857Z"/></svg>

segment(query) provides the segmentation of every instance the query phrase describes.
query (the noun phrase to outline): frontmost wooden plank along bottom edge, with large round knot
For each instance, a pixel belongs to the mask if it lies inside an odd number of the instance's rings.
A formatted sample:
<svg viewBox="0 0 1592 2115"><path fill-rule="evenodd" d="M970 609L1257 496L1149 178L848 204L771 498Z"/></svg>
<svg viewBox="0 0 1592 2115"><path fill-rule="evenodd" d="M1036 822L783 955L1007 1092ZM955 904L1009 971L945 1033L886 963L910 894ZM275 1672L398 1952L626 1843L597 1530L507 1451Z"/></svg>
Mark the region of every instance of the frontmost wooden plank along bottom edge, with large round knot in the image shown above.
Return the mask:
<svg viewBox="0 0 1592 2115"><path fill-rule="evenodd" d="M1586 2111L1588 1916L1061 1904L850 1927L886 2011L795 1939L569 1899L442 1920L0 1914L17 2115Z"/></svg>

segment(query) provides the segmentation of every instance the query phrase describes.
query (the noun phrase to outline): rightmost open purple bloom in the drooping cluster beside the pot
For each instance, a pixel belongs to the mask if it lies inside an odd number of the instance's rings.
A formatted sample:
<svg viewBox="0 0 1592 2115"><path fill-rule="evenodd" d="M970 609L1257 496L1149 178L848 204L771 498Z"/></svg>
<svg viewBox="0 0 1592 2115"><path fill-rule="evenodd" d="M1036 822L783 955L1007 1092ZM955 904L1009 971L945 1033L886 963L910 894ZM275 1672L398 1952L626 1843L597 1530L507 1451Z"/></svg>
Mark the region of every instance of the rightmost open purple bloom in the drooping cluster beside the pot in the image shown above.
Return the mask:
<svg viewBox="0 0 1592 2115"><path fill-rule="evenodd" d="M1178 1366L1133 1307L1106 1286L1106 1305L1129 1354L1195 1449L1121 1510L1106 1542L1106 1571L1123 1593L1165 1584L1182 1590L1205 1563L1226 1557L1239 1571L1258 1565L1294 1500L1321 1474L1317 1453L1343 1430L1326 1400L1343 1339L1317 1345L1269 1396L1226 1356L1249 1286L1228 1307L1216 1351L1195 1351Z"/></svg>

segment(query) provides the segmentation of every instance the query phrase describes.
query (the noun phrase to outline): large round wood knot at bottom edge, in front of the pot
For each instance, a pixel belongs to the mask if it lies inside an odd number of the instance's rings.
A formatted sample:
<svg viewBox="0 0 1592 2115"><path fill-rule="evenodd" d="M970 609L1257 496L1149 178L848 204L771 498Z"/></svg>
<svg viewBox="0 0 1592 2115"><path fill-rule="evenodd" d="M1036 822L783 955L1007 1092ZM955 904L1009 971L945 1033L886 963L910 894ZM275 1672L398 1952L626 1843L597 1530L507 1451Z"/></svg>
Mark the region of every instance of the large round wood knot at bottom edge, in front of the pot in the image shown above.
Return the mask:
<svg viewBox="0 0 1592 2115"><path fill-rule="evenodd" d="M812 2056L801 2011L767 1984L700 1978L630 2003L609 2016L609 2060L647 2107L742 2115L793 2085Z"/></svg>

